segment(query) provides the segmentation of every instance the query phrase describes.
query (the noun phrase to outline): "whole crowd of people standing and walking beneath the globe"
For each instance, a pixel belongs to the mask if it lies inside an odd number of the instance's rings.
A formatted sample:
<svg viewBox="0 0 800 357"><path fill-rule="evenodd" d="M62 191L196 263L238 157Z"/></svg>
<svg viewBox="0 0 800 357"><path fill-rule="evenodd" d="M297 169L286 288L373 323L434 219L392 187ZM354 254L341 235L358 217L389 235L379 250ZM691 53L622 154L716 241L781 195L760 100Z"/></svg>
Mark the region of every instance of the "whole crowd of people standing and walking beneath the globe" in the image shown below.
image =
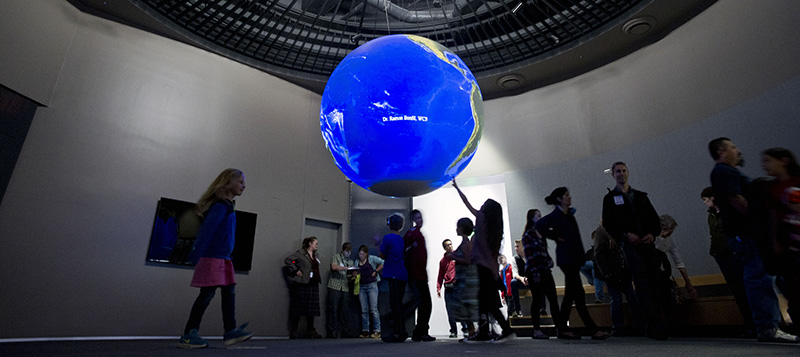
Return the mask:
<svg viewBox="0 0 800 357"><path fill-rule="evenodd" d="M730 286L742 315L745 335L763 342L800 342L797 336L779 328L781 311L776 288L788 301L787 314L800 321L800 166L786 149L773 148L762 153L762 168L769 178L750 180L737 167L742 155L728 138L709 142L715 162L711 186L702 190L708 208L710 255ZM538 209L528 211L524 233L515 241L515 254L507 259L500 254L503 240L503 209L487 199L479 209L453 180L453 187L467 210L474 216L456 223L460 241L442 242L445 251L439 261L436 294L444 294L450 337L462 331L464 343L503 343L516 338L508 319L501 312L503 302L509 317L522 316L519 290L531 292L531 320L534 339L550 338L541 328L545 302L559 339L580 339L579 331L568 325L573 305L593 340L611 336L645 335L664 340L669 337L668 316L676 299L672 266L680 272L690 299L697 289L683 263L672 234L677 222L669 215L658 215L644 191L628 183L624 162L610 168L615 186L604 196L600 225L592 232L592 246L585 250L566 187L554 189L545 197L553 210L544 216ZM197 212L204 218L190 260L195 264L191 285L200 288L189 320L179 341L181 348L207 347L200 337L202 316L217 288L222 291L224 344L232 345L253 336L246 325L236 326L235 276L230 255L234 245L236 215L233 199L244 191L244 174L236 169L223 171L198 201ZM412 227L404 234L405 217L395 213L387 218L390 233L380 242L378 254L362 245L355 259L353 246L344 243L331 259L327 282L327 324L329 338L349 337L348 302L357 295L361 305L362 338L384 342L436 340L429 334L432 299L428 286L428 251L421 228L422 213L410 214ZM555 260L548 242L555 242ZM284 274L290 295L289 338L322 338L314 328L320 315L319 286L322 284L319 242L305 238L296 252L286 257ZM455 248L454 248L455 247ZM670 260L672 263L670 263ZM558 303L552 269L564 275L564 296ZM612 326L600 329L586 306L581 281L584 273L595 286L596 302L610 297ZM386 281L390 313L381 324L378 310L378 282ZM405 296L409 294L409 296ZM632 313L632 328L625 326L623 298ZM406 300L404 304L404 298ZM305 317L306 331L299 332ZM500 332L494 331L494 324ZM406 325L414 328L409 336Z"/></svg>

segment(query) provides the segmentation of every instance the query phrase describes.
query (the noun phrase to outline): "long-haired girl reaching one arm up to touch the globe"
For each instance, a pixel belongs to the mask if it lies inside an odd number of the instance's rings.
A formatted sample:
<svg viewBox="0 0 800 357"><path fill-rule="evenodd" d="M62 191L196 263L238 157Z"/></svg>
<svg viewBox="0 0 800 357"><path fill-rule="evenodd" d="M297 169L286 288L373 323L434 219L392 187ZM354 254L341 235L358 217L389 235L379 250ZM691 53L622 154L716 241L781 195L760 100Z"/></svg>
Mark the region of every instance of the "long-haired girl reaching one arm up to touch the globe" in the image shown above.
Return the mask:
<svg viewBox="0 0 800 357"><path fill-rule="evenodd" d="M503 207L493 199L487 199L480 210L476 210L467 200L467 196L458 188L456 180L453 180L453 187L458 191L458 195L467 206L467 209L475 215L475 236L472 238L472 261L478 266L478 279L480 289L478 291L478 313L480 321L478 333L464 339L464 342L490 341L503 343L516 337L514 330L509 325L508 320L500 312L500 295L503 283L500 275L497 274L497 258L500 256L500 244L503 241ZM503 332L496 338L489 335L489 315L492 315L497 323L502 327Z"/></svg>

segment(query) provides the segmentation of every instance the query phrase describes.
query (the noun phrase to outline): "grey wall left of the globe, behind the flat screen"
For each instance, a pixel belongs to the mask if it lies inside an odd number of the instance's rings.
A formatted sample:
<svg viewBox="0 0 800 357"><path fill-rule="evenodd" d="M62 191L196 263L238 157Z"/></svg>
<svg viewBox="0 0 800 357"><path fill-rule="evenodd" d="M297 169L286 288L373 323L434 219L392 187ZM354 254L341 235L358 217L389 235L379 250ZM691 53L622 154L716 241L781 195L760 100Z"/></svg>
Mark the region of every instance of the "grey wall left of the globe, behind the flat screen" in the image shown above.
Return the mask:
<svg viewBox="0 0 800 357"><path fill-rule="evenodd" d="M239 322L285 335L283 257L305 217L344 224L348 211L319 96L60 1L24 4L16 15L38 30L17 42L76 30L0 206L0 337L180 334L197 289L191 270L145 265L156 202L195 201L227 167L247 178L237 209L258 214L253 268L237 275ZM49 11L67 13L38 16ZM0 78L41 56L3 53L17 65ZM50 85L36 78L26 86ZM203 334L221 335L220 321L215 302Z"/></svg>

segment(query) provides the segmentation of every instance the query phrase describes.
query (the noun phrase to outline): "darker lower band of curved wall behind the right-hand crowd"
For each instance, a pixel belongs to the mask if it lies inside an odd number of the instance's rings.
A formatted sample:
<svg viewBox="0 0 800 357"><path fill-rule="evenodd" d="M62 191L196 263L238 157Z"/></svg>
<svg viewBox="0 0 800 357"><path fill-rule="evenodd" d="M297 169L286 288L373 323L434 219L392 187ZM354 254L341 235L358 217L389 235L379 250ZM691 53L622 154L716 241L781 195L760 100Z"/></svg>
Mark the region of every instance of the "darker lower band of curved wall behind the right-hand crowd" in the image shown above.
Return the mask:
<svg viewBox="0 0 800 357"><path fill-rule="evenodd" d="M800 98L800 77L703 121L645 142L579 160L506 173L512 235L522 234L528 209L550 212L552 208L545 207L544 197L558 186L567 186L577 209L584 247L588 248L591 232L600 222L603 196L607 188L614 187L614 180L603 170L615 161L624 161L628 164L631 186L648 192L656 211L669 214L678 222L673 240L689 274L718 274L716 263L708 255L707 214L700 200L700 192L710 186L709 174L714 165L708 142L720 136L731 138L745 157L742 171L752 178L764 176L761 151L781 146L800 153L797 98ZM677 270L673 275L680 277Z"/></svg>

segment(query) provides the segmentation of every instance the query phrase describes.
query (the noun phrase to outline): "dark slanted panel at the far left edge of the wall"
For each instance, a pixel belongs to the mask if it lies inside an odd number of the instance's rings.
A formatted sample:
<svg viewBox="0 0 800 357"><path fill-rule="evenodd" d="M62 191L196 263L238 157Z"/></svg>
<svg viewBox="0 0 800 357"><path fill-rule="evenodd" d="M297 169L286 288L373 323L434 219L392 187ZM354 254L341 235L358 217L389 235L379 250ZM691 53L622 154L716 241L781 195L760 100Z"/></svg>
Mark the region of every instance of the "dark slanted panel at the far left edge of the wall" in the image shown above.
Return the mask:
<svg viewBox="0 0 800 357"><path fill-rule="evenodd" d="M0 202L11 181L35 113L36 103L0 86Z"/></svg>

